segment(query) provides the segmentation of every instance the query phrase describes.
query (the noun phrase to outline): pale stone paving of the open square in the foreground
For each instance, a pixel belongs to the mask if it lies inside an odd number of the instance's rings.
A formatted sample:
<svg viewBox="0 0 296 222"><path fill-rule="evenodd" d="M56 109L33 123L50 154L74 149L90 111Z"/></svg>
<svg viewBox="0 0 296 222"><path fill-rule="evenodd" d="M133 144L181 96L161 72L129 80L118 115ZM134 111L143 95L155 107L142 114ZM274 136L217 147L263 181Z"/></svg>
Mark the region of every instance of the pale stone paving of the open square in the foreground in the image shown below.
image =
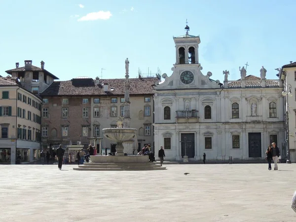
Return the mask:
<svg viewBox="0 0 296 222"><path fill-rule="evenodd" d="M295 164L73 167L0 165L0 222L296 222Z"/></svg>

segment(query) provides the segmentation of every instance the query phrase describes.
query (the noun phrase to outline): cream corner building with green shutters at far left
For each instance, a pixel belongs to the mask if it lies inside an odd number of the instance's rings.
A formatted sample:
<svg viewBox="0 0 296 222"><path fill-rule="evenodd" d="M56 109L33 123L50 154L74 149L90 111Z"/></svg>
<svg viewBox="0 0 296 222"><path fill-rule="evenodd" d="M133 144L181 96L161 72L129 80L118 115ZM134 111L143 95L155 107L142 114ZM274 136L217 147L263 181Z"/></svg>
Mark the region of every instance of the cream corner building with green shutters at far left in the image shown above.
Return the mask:
<svg viewBox="0 0 296 222"><path fill-rule="evenodd" d="M41 99L16 77L0 77L0 164L39 158L40 110Z"/></svg>

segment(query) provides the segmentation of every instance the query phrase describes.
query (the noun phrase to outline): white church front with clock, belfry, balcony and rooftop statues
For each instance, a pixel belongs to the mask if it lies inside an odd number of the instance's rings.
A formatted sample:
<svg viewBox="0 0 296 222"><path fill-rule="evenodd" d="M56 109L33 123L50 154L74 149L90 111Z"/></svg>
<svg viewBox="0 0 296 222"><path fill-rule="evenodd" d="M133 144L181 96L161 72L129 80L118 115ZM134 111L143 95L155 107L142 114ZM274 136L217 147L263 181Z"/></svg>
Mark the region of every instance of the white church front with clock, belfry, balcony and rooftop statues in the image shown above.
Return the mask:
<svg viewBox="0 0 296 222"><path fill-rule="evenodd" d="M203 74L198 58L199 36L174 37L176 63L172 75L154 87L154 146L167 160L264 159L275 142L284 152L282 81L246 75L223 84Z"/></svg>

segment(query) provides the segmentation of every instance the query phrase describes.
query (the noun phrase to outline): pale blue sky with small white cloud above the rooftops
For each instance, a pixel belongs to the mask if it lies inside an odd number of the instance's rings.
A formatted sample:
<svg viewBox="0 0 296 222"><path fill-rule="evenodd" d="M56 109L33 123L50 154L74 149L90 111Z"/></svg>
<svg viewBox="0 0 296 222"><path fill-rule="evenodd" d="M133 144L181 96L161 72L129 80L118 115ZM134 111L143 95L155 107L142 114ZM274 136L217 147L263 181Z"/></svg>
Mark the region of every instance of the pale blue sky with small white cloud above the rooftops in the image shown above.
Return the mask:
<svg viewBox="0 0 296 222"><path fill-rule="evenodd" d="M173 36L200 36L202 73L212 79L247 75L276 79L296 61L295 0L0 0L0 75L33 60L60 80L172 74ZM102 70L105 69L105 70Z"/></svg>

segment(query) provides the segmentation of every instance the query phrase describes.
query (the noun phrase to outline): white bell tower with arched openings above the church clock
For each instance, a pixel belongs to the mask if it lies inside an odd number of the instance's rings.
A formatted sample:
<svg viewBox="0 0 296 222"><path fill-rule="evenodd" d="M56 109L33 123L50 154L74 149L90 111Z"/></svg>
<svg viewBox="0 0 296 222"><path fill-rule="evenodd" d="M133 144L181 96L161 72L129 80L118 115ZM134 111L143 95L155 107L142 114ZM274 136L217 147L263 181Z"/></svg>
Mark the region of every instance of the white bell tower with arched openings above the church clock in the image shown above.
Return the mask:
<svg viewBox="0 0 296 222"><path fill-rule="evenodd" d="M173 37L176 47L176 65L178 64L197 64L198 61L198 44L200 43L199 36L189 35L189 26L186 20L186 34L179 37Z"/></svg>

